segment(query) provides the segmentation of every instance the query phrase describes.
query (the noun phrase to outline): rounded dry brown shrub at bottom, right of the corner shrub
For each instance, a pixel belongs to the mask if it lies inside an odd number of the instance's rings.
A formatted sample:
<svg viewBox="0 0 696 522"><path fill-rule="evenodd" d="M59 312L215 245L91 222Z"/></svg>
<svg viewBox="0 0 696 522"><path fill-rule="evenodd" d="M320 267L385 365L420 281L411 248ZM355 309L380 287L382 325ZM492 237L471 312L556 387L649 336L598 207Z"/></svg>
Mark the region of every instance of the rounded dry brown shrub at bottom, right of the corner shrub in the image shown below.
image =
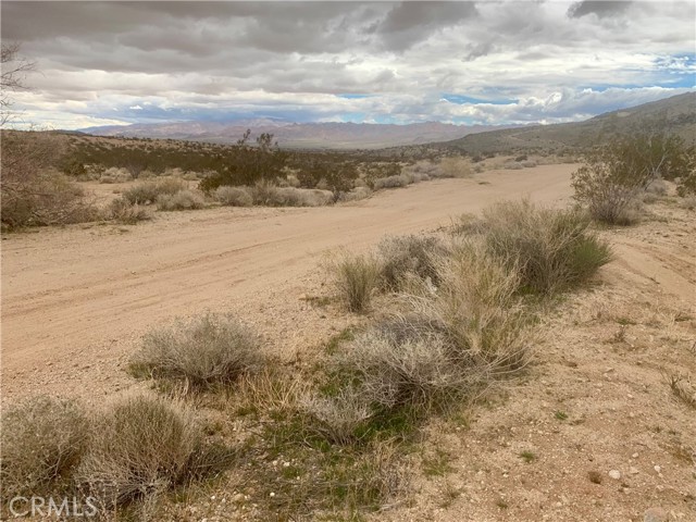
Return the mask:
<svg viewBox="0 0 696 522"><path fill-rule="evenodd" d="M146 395L122 398L95 420L77 481L111 510L195 477L202 448L202 432L184 407Z"/></svg>

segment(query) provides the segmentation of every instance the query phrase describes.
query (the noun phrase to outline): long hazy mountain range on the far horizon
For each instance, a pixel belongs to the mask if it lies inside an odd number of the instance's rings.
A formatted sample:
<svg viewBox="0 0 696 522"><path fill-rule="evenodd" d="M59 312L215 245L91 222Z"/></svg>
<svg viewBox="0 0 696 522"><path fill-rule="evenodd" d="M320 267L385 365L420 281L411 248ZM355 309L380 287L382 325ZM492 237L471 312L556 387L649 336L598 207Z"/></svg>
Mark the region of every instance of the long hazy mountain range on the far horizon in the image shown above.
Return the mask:
<svg viewBox="0 0 696 522"><path fill-rule="evenodd" d="M89 127L82 132L96 136L137 138L173 138L216 144L234 144L251 129L252 136L271 133L281 147L319 149L378 149L423 145L461 138L509 126L458 126L437 122L410 125L369 123L285 123L272 120L248 120L234 123L175 122L134 124L127 126Z"/></svg>

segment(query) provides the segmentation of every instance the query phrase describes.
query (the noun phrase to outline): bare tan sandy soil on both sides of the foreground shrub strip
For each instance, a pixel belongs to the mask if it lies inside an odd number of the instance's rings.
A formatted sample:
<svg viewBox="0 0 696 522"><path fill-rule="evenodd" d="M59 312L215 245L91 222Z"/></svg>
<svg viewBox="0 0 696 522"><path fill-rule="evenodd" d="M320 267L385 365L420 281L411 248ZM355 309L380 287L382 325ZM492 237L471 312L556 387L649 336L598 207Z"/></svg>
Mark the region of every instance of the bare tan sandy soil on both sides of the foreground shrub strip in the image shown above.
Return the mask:
<svg viewBox="0 0 696 522"><path fill-rule="evenodd" d="M434 231L500 199L567 204L576 167L493 171L333 208L158 212L135 226L3 236L2 400L138 386L123 365L140 336L204 310L236 312L288 361L311 357L363 321L314 299L331 295L327 252ZM616 260L552 308L523 380L467 422L426 428L412 469L434 452L447 465L413 473L374 520L643 521L648 509L696 520L696 410L669 384L681 374L696 391L696 212L674 198L648 209L635 227L601 232ZM234 492L212 487L177 520L244 520Z"/></svg>

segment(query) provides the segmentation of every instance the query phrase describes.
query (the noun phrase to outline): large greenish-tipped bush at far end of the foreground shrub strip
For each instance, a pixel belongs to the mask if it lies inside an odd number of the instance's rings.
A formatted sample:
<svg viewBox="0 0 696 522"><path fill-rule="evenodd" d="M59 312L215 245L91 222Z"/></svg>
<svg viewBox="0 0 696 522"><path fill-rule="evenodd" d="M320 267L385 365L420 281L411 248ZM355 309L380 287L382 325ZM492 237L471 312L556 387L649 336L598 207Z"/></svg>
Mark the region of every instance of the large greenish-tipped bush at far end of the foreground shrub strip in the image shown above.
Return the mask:
<svg viewBox="0 0 696 522"><path fill-rule="evenodd" d="M551 294L591 277L611 260L609 246L589 232L577 210L508 201L484 210L480 225L487 248L521 273L521 288Z"/></svg>

